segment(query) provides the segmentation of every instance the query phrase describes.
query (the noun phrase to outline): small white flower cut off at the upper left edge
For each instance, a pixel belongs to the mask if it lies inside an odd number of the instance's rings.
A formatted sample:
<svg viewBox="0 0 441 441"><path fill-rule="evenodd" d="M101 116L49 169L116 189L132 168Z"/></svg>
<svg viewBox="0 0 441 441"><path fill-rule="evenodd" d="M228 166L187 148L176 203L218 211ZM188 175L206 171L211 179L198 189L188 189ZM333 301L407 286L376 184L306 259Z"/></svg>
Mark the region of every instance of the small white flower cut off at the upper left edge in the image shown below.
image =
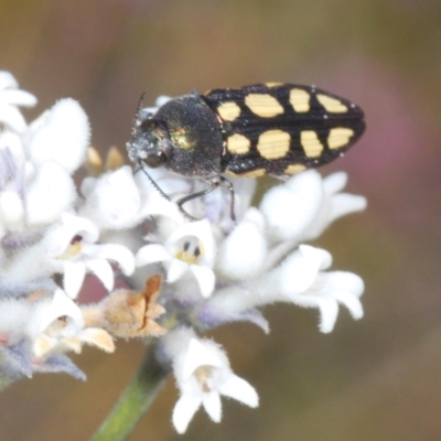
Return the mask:
<svg viewBox="0 0 441 441"><path fill-rule="evenodd" d="M21 133L26 129L26 122L18 106L34 106L36 98L18 87L19 84L9 72L0 71L0 123Z"/></svg>

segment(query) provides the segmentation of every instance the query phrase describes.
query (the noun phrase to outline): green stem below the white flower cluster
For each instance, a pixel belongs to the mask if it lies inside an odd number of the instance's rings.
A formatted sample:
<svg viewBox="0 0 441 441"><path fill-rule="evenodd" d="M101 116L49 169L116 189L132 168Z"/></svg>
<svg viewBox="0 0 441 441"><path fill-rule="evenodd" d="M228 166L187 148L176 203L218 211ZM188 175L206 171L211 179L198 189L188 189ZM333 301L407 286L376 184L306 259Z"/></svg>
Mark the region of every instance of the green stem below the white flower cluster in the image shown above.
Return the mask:
<svg viewBox="0 0 441 441"><path fill-rule="evenodd" d="M168 375L169 370L154 357L154 345L149 346L138 373L90 441L125 440L153 402Z"/></svg>

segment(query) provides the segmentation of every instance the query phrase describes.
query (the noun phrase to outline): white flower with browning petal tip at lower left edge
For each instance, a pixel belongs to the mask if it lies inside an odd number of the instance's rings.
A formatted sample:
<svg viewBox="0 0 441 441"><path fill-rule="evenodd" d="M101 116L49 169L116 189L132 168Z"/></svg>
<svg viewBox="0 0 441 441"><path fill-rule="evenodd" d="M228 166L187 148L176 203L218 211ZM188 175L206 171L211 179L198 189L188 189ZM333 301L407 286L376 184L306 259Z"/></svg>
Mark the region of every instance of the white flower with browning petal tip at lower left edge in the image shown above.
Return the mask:
<svg viewBox="0 0 441 441"><path fill-rule="evenodd" d="M114 341L101 329L85 327L79 308L61 290L0 300L0 375L32 377L35 372L85 375L63 352L79 353L83 344L112 352Z"/></svg>

